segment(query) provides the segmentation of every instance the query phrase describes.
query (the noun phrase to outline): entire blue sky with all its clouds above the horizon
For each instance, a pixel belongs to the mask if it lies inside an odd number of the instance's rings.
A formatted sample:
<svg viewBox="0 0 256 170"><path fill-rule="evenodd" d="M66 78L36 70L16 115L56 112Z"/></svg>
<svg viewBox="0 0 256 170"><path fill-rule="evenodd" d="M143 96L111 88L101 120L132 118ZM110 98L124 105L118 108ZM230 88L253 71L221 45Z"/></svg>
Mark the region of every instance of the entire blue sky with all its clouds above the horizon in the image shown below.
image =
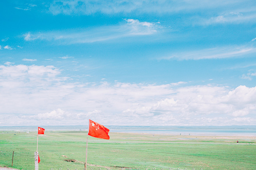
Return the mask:
<svg viewBox="0 0 256 170"><path fill-rule="evenodd" d="M255 125L253 0L3 0L0 125Z"/></svg>

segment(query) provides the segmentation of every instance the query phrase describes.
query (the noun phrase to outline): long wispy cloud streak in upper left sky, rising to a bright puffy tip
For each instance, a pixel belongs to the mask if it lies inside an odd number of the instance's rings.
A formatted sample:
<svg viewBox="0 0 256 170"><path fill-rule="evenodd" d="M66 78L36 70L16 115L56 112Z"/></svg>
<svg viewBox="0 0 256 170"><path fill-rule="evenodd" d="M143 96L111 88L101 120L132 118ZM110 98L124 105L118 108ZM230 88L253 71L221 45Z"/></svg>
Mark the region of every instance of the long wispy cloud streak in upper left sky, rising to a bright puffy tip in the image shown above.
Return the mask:
<svg viewBox="0 0 256 170"><path fill-rule="evenodd" d="M26 33L24 39L55 41L60 44L93 43L131 36L146 36L156 34L162 27L160 22L140 22L137 19L124 19L115 26L99 27L91 30L49 31L45 33Z"/></svg>

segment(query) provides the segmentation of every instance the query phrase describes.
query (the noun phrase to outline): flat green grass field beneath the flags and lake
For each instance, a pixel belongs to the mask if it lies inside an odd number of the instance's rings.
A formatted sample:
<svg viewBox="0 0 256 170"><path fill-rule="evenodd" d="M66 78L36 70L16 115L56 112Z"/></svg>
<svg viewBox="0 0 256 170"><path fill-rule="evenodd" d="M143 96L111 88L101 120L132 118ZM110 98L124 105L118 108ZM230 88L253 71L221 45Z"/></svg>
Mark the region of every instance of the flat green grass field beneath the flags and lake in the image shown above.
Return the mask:
<svg viewBox="0 0 256 170"><path fill-rule="evenodd" d="M86 137L86 131L39 135L39 169L83 170ZM11 167L14 151L12 167L33 170L36 149L37 132L0 131L0 167ZM88 164L88 170L256 170L256 137L110 133L110 140L105 140L89 136Z"/></svg>

